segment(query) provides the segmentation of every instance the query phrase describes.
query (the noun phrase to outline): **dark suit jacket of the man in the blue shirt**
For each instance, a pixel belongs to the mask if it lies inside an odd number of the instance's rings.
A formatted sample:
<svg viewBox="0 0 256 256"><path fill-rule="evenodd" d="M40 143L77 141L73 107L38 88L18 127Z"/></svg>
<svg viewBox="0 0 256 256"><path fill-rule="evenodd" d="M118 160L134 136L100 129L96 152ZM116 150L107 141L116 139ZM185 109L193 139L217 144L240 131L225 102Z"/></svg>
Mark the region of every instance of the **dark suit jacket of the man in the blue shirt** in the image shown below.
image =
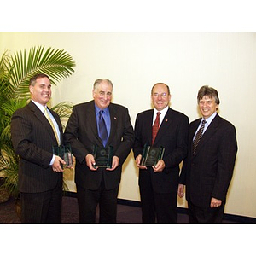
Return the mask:
<svg viewBox="0 0 256 256"><path fill-rule="evenodd" d="M103 147L98 136L95 102L85 102L73 107L73 113L67 122L64 133L65 142L71 143L73 155L76 157L75 183L85 189L99 189L102 176L106 189L119 186L122 164L131 151L134 142L134 132L128 109L118 104L110 103L111 119L110 135L106 147L113 146L113 155L119 157L119 166L113 171L98 168L91 171L86 165L85 156L93 154L93 147Z"/></svg>

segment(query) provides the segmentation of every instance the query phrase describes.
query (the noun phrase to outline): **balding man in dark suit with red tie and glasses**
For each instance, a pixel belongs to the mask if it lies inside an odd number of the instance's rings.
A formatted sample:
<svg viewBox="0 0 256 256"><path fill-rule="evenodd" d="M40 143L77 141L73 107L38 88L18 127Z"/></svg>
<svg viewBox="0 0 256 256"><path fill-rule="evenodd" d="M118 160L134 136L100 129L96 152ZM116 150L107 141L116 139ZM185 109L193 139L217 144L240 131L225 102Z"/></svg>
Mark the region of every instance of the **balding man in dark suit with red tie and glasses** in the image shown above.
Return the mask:
<svg viewBox="0 0 256 256"><path fill-rule="evenodd" d="M169 108L171 94L168 85L154 84L151 100L154 109L137 114L133 148L139 167L143 223L154 223L155 218L158 223L177 223L179 164L187 155L189 119ZM160 113L159 130L154 132L152 127L157 113ZM165 148L162 160L155 166L141 165L144 145Z"/></svg>

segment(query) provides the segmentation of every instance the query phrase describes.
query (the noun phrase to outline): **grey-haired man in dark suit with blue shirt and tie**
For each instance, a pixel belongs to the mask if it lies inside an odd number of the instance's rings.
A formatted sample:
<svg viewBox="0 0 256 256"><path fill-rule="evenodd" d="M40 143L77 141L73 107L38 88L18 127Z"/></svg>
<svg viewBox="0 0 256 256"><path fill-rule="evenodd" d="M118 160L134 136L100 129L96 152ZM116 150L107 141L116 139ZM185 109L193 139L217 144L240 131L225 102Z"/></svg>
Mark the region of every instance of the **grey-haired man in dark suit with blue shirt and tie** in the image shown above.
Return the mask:
<svg viewBox="0 0 256 256"><path fill-rule="evenodd" d="M64 133L65 141L71 143L76 158L75 183L80 223L96 222L98 203L100 223L116 222L122 165L131 151L134 132L128 109L111 103L112 92L110 80L97 79L93 86L94 100L73 107ZM102 119L105 123L104 137ZM112 166L96 166L95 147L113 147Z"/></svg>

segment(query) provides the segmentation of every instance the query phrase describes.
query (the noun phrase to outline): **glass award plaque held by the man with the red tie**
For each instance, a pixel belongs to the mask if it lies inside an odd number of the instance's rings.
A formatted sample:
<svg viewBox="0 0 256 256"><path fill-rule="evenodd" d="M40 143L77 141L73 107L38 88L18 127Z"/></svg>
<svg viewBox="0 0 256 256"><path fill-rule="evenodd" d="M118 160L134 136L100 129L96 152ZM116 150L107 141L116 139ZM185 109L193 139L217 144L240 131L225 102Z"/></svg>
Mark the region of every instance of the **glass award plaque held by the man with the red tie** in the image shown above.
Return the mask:
<svg viewBox="0 0 256 256"><path fill-rule="evenodd" d="M165 148L154 148L145 145L143 148L143 157L140 162L141 166L155 166L157 162L163 159Z"/></svg>

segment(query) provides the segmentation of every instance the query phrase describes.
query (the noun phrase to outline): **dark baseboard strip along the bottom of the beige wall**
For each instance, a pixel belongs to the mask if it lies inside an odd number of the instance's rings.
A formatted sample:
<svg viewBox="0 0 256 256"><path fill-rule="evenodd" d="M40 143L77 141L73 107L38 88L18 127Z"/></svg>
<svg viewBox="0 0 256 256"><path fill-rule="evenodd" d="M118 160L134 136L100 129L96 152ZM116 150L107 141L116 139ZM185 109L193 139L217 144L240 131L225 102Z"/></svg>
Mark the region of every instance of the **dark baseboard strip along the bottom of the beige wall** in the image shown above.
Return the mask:
<svg viewBox="0 0 256 256"><path fill-rule="evenodd" d="M63 194L64 196L77 197L77 193L75 193L75 192L65 191L63 193L64 193ZM120 198L118 199L118 204L119 205L130 206L130 207L141 207L141 202L140 201L132 201L132 200L120 199ZM180 213L180 214L188 214L188 209L183 208L183 207L177 207L177 212ZM236 222L236 223L241 223L241 224L256 223L256 218L234 215L234 214L228 214L228 213L224 213L224 220L232 221L232 222Z"/></svg>

